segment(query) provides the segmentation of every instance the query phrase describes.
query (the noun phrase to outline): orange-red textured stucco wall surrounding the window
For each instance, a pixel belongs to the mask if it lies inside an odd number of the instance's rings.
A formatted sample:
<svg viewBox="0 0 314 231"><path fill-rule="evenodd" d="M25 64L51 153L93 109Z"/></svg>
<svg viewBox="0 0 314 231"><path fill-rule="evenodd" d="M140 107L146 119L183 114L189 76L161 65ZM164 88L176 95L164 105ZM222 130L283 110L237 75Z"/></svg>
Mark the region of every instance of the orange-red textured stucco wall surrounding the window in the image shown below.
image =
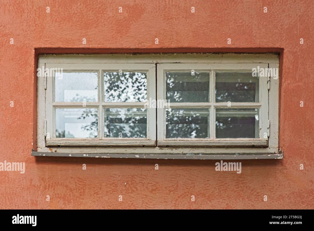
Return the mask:
<svg viewBox="0 0 314 231"><path fill-rule="evenodd" d="M26 171L0 172L0 208L313 209L313 12L311 0L2 0L0 162ZM133 51L280 52L284 159L242 161L236 174L216 172L216 161L31 157L37 53Z"/></svg>

